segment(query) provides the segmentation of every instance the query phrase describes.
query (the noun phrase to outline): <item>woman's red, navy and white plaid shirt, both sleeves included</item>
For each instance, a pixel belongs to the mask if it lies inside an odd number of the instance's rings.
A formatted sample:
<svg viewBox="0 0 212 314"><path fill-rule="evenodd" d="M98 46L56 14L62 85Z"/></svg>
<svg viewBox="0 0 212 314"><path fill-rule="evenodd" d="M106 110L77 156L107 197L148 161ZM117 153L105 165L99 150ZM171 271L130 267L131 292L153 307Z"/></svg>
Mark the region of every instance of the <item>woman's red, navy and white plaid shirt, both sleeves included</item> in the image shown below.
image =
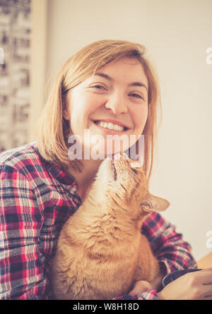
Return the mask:
<svg viewBox="0 0 212 314"><path fill-rule="evenodd" d="M0 154L0 299L52 298L49 267L62 224L81 205L76 180L42 159L37 143ZM167 273L196 267L182 234L158 214L142 233ZM114 299L157 299L154 289Z"/></svg>

